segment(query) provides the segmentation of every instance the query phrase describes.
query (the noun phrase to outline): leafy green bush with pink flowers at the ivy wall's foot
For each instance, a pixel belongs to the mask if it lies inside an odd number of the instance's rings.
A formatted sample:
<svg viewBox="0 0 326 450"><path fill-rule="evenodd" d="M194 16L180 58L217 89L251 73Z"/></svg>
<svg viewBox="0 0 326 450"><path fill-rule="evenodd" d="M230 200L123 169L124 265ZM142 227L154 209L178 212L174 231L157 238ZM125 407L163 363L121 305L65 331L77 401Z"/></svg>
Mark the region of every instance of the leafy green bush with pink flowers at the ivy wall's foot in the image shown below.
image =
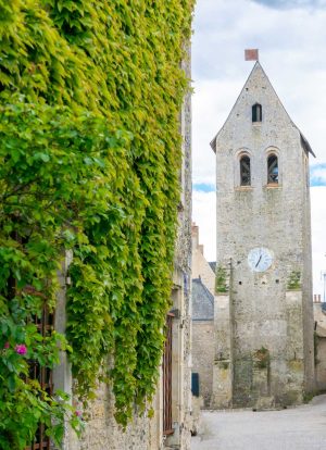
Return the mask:
<svg viewBox="0 0 326 450"><path fill-rule="evenodd" d="M83 428L82 417L74 414L66 393L57 391L55 397L50 397L37 380L29 378L29 359L52 368L59 363L59 351L68 350L65 339L55 332L42 337L36 325L26 326L35 300L30 297L23 310L18 298L4 302L0 297L1 450L24 449L33 442L39 423L46 425L47 434L58 446L63 437L64 418L71 421L77 433ZM11 314L4 314L5 311Z"/></svg>

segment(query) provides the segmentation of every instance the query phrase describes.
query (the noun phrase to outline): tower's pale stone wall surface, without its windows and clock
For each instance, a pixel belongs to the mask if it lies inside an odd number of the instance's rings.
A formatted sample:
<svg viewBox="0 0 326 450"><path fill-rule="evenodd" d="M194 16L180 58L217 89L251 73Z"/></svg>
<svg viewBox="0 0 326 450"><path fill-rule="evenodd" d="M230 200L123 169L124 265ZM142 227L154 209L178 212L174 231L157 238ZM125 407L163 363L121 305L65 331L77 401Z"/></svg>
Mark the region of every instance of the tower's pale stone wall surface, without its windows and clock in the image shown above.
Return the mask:
<svg viewBox="0 0 326 450"><path fill-rule="evenodd" d="M261 124L252 124L255 102L262 104ZM266 186L271 147L279 154L278 187ZM237 155L243 149L251 157L251 187L239 186ZM300 401L303 385L313 379L306 170L299 130L258 66L216 139L217 265L231 278L234 401L239 405L253 404L260 392L274 392L280 403ZM274 254L265 273L249 268L254 247ZM287 293L293 272L300 272L302 287ZM253 361L262 347L271 353L263 382Z"/></svg>

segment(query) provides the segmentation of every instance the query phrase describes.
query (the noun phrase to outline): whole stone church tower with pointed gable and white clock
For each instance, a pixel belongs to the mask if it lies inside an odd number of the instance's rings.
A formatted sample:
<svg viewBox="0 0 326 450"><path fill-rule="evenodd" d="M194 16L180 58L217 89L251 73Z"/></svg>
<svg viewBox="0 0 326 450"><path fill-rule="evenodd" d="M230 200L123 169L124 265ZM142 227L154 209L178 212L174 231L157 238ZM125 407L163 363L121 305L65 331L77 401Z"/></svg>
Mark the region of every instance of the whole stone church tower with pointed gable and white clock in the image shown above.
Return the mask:
<svg viewBox="0 0 326 450"><path fill-rule="evenodd" d="M255 63L216 153L214 408L299 403L314 386L309 154Z"/></svg>

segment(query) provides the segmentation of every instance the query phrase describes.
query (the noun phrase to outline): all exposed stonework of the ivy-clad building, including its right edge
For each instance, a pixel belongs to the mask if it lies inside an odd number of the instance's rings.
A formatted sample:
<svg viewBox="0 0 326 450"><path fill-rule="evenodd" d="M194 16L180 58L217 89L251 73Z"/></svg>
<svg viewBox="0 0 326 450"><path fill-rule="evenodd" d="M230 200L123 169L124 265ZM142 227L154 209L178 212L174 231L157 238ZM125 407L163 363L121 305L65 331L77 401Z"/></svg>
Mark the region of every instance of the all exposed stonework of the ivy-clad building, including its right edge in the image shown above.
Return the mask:
<svg viewBox="0 0 326 450"><path fill-rule="evenodd" d="M190 79L189 60L184 62ZM178 233L176 239L172 308L166 317L168 339L165 346L160 380L151 414L138 414L135 407L134 421L126 430L114 418L114 396L110 386L99 384L97 399L84 411L85 432L78 439L66 428L64 450L190 450L191 429L191 360L190 360L190 295L191 295L191 93L185 98L180 112L183 135L183 166L180 170L181 197L178 208ZM54 327L65 333L66 273L73 255L67 254L60 277ZM110 361L108 361L110 364ZM61 389L74 398L74 380L65 353L62 363L54 368L54 390ZM82 407L80 407L82 408Z"/></svg>

